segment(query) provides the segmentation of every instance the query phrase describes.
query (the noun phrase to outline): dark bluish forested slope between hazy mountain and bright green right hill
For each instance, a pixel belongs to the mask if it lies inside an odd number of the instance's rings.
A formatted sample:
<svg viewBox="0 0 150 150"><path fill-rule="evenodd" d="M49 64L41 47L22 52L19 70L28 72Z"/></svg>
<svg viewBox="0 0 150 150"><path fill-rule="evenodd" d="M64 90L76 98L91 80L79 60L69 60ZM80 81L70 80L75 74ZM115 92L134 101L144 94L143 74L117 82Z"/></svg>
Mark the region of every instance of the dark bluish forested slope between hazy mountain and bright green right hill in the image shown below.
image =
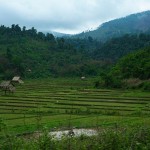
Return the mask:
<svg viewBox="0 0 150 150"><path fill-rule="evenodd" d="M126 34L119 38L112 38L105 42L93 52L96 59L111 59L117 61L119 58L150 45L149 34L130 35Z"/></svg>

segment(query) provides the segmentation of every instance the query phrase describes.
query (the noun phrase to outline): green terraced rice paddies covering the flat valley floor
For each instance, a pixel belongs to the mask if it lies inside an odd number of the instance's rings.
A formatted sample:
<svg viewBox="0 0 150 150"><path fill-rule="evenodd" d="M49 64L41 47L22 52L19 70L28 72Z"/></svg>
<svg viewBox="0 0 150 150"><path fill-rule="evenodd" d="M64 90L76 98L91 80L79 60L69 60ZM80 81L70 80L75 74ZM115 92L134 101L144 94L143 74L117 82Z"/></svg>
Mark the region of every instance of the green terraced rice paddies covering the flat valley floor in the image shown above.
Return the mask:
<svg viewBox="0 0 150 150"><path fill-rule="evenodd" d="M25 81L0 93L0 121L12 134L48 128L150 124L150 93L94 89L93 81Z"/></svg>

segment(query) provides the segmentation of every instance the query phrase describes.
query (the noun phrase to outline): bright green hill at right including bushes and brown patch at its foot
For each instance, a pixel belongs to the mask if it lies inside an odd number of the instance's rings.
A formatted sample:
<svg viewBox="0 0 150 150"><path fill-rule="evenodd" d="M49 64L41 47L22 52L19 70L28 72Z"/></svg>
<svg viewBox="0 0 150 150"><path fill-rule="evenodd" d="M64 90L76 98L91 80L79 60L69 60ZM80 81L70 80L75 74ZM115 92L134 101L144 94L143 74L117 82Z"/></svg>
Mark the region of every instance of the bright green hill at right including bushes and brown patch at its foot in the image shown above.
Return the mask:
<svg viewBox="0 0 150 150"><path fill-rule="evenodd" d="M150 47L121 58L110 71L102 73L95 87L141 88L150 90Z"/></svg>

